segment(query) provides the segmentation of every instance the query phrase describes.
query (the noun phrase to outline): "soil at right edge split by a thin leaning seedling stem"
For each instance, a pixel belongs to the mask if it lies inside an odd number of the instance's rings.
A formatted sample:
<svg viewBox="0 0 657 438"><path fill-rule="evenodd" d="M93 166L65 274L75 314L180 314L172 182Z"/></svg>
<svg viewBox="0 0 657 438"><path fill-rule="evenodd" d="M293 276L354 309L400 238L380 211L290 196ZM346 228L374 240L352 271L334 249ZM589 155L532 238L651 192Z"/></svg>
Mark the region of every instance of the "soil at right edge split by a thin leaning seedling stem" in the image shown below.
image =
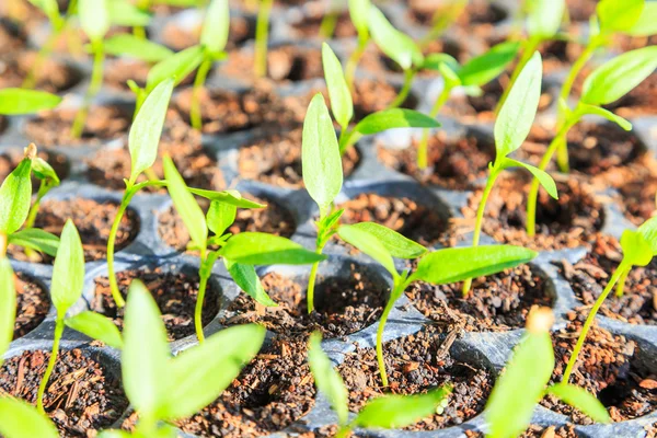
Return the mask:
<svg viewBox="0 0 657 438"><path fill-rule="evenodd" d="M575 265L562 261L561 274L570 283L577 299L590 307L602 295L622 257L615 239L599 235L584 260ZM634 267L627 276L623 296L618 297L615 290L612 291L599 312L632 324L657 325L657 262Z"/></svg>

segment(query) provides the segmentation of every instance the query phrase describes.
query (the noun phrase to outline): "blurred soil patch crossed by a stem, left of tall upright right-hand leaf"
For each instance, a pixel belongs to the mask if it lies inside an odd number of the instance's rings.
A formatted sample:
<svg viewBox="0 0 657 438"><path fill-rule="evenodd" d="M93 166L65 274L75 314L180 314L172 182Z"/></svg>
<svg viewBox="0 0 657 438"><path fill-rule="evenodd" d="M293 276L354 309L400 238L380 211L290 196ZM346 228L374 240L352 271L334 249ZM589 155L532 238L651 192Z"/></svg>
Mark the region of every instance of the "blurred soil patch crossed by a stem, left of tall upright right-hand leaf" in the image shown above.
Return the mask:
<svg viewBox="0 0 657 438"><path fill-rule="evenodd" d="M474 135L448 139L445 131L429 137L428 166L417 168L417 139L404 149L387 149L379 145L378 155L388 168L411 175L424 184L465 189L486 176L488 163L495 160L495 145Z"/></svg>

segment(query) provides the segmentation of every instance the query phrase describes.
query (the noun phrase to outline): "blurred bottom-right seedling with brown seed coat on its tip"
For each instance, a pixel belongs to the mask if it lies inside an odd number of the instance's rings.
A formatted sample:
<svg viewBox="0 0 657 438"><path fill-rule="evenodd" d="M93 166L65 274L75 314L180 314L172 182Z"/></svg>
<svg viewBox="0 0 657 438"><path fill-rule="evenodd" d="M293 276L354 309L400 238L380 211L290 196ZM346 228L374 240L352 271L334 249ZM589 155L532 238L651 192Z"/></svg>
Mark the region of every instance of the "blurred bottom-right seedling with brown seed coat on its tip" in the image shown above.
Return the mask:
<svg viewBox="0 0 657 438"><path fill-rule="evenodd" d="M486 404L489 429L486 437L516 438L529 426L537 404L551 394L599 423L610 423L607 410L586 390L565 381L548 385L554 370L550 328L552 310L534 308L527 318L527 332L507 362Z"/></svg>

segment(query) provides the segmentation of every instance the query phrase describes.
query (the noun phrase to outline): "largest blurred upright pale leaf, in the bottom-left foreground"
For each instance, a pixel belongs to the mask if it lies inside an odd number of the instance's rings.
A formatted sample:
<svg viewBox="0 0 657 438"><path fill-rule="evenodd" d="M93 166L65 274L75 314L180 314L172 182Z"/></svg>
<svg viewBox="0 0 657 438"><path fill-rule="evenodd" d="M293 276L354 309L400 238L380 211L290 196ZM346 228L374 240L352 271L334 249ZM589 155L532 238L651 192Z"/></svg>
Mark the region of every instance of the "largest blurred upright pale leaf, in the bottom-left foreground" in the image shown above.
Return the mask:
<svg viewBox="0 0 657 438"><path fill-rule="evenodd" d="M122 374L130 404L143 418L158 418L171 379L166 330L155 300L141 280L132 280L124 318ZM191 372L192 373L192 372Z"/></svg>

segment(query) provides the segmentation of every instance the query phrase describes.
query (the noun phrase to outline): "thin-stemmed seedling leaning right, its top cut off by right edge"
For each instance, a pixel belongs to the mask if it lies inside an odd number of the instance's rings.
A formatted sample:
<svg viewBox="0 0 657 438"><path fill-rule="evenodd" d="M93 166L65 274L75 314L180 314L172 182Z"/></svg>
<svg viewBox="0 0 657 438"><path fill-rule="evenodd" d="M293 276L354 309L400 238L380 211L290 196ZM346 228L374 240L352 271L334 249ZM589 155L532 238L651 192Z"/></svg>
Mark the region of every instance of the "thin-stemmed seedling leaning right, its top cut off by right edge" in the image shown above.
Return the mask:
<svg viewBox="0 0 657 438"><path fill-rule="evenodd" d="M574 372L575 366L577 365L577 357L579 356L586 336L596 320L596 314L609 293L613 290L614 286L618 284L616 295L623 295L625 280L630 270L632 270L634 266L648 265L653 257L657 255L657 218L647 220L638 227L636 231L625 230L621 237L621 247L623 249L623 260L613 272L607 287L602 293L600 293L600 297L598 297L586 318L577 344L573 349L573 354L570 355L570 359L564 371L564 378L562 380L562 383L564 384L567 384L570 380L570 374Z"/></svg>

